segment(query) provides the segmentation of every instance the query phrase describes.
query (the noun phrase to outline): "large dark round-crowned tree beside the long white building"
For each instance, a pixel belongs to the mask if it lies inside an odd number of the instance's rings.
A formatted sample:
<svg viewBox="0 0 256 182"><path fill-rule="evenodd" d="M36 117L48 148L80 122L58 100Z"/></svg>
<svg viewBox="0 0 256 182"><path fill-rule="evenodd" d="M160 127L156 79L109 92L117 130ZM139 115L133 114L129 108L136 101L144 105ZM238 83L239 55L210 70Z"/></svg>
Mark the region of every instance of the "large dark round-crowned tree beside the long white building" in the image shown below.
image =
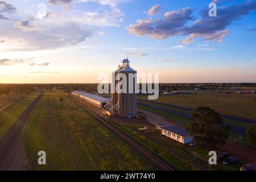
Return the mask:
<svg viewBox="0 0 256 182"><path fill-rule="evenodd" d="M216 111L209 107L198 107L193 110L192 118L195 121L187 130L197 146L209 150L225 145L230 129L222 125L223 119Z"/></svg>

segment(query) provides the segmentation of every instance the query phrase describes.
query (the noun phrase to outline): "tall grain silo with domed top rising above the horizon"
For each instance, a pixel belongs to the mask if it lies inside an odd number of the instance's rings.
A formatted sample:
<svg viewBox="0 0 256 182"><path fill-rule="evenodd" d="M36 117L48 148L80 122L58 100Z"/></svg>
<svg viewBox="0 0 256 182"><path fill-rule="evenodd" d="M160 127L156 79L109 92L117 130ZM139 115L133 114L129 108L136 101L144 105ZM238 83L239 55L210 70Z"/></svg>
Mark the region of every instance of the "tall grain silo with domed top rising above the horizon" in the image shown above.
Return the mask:
<svg viewBox="0 0 256 182"><path fill-rule="evenodd" d="M127 88L127 92L115 92L112 94L112 105L118 104L115 109L115 114L121 117L136 117L137 115L137 71L130 68L130 61L124 59L122 65L119 66L119 69L114 72L113 76L117 76L115 85L122 80L122 75L126 75L126 80L123 81L122 88ZM113 84L113 83L112 83ZM129 92L130 88L130 92ZM116 90L118 91L118 90Z"/></svg>

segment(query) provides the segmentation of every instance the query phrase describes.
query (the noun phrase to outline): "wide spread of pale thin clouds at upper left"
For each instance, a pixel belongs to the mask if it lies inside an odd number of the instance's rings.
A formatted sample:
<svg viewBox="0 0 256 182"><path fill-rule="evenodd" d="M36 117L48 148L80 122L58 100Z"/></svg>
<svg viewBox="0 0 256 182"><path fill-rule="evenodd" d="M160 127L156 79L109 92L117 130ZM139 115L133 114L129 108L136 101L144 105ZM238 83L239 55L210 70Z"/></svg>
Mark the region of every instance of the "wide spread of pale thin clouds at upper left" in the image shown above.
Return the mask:
<svg viewBox="0 0 256 182"><path fill-rule="evenodd" d="M22 9L10 3L0 1L0 44L8 46L2 51L37 51L40 49L56 49L85 43L94 34L106 35L97 31L99 27L116 26L123 22L125 14L117 5L129 0L48 0L46 16L39 18L23 13ZM95 11L61 10L58 6L72 6L76 3L95 2L105 9ZM17 3L18 4L18 3ZM110 9L109 9L110 7ZM21 19L21 17L27 17ZM23 45L16 44L22 39Z"/></svg>

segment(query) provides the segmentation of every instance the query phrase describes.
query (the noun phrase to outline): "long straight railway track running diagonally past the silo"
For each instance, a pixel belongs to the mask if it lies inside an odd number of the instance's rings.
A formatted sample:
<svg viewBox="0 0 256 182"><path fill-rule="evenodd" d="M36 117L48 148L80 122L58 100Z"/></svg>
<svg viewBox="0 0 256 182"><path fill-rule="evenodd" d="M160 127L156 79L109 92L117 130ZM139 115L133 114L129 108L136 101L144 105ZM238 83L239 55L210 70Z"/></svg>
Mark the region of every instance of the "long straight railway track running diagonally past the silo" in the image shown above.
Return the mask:
<svg viewBox="0 0 256 182"><path fill-rule="evenodd" d="M67 96L65 96L67 97ZM127 137L125 134L121 133L121 131L117 130L115 127L113 127L112 125L110 125L108 122L106 122L104 119L102 119L101 117L99 117L97 114L93 113L92 111L90 111L88 108L86 108L85 106L81 105L79 102L73 100L70 97L67 97L69 100L71 100L72 102L75 102L77 105L79 105L80 107L82 107L82 109L84 109L86 112L88 112L89 114L93 115L94 118L98 119L98 121L100 121L101 123L103 123L106 127L108 127L110 130L112 130L115 134L117 134L119 137L121 137L123 140L125 140L128 144L130 144L130 146L134 147L137 151L139 151L143 156L145 156L146 158L150 159L153 163L155 163L157 166L159 166L160 168L166 170L166 171L175 171L174 168L168 166L166 163L164 163L162 160L156 158L154 155L152 155L150 152L148 152L147 150L145 150L143 147L139 146L138 143L134 142L133 140L131 140L129 137Z"/></svg>

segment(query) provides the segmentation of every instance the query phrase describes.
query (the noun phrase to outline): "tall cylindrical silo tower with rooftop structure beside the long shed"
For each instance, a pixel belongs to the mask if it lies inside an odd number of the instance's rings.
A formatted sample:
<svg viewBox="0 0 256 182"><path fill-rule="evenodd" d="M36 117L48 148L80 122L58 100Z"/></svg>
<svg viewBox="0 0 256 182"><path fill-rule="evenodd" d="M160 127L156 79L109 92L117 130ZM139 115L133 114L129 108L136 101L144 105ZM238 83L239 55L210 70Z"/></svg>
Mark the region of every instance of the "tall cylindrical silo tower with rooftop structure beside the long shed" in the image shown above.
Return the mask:
<svg viewBox="0 0 256 182"><path fill-rule="evenodd" d="M117 114L121 117L136 117L137 115L137 93L136 93L136 86L137 86L137 78L132 78L129 80L129 74L137 74L137 71L130 68L130 61L125 59L122 61L122 65L118 69L118 73L123 73L126 75L127 82L123 82L123 85L126 85L127 93L117 93L117 101L118 101L118 109ZM117 82L121 81L120 74L118 74ZM129 81L130 84L133 85L133 92L129 93ZM130 85L130 86L131 86ZM116 97L114 97L116 99Z"/></svg>

